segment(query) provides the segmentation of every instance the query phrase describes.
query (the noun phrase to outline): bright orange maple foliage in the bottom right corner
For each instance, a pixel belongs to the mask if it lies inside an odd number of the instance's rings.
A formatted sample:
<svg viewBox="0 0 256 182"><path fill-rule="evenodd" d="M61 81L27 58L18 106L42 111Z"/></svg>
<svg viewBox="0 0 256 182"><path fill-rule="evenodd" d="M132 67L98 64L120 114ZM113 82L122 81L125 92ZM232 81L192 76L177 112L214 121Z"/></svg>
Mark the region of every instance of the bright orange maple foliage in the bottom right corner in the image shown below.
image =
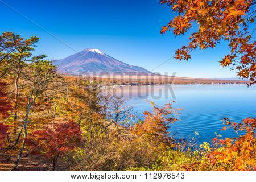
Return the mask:
<svg viewBox="0 0 256 182"><path fill-rule="evenodd" d="M214 138L216 148L209 154L214 169L218 170L255 170L256 167L256 119L246 118L243 123L225 119L225 129L233 127L235 131L246 131L238 138Z"/></svg>

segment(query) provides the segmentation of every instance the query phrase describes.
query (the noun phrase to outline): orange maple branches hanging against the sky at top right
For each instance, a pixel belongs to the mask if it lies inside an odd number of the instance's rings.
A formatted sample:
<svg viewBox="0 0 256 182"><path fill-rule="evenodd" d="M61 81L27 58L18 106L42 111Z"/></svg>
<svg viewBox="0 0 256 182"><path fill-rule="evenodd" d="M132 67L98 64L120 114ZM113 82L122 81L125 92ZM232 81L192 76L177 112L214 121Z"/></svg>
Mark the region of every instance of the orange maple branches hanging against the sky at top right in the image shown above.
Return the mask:
<svg viewBox="0 0 256 182"><path fill-rule="evenodd" d="M172 30L180 35L195 24L198 27L189 36L189 44L177 49L176 59L191 59L191 51L214 48L227 41L230 52L220 61L222 67L231 66L239 77L250 79L250 84L256 82L255 0L160 0L160 3L167 3L176 13L162 27L162 34Z"/></svg>

